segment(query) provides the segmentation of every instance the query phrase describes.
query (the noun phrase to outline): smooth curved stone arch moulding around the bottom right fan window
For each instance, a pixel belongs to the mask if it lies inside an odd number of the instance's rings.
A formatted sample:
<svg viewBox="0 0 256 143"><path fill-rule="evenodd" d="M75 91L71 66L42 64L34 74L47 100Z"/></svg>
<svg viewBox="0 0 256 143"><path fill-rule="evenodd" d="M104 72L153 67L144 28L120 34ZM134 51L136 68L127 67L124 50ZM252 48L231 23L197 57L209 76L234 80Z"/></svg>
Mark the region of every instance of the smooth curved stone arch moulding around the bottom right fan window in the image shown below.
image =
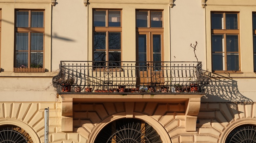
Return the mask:
<svg viewBox="0 0 256 143"><path fill-rule="evenodd" d="M254 126L256 126L256 119L254 118L244 118L244 119L239 119L233 123L231 123L221 134L220 139L219 139L219 143L224 143L227 136L229 135L229 133L235 129L238 126L241 125L245 125L245 124L252 124Z"/></svg>

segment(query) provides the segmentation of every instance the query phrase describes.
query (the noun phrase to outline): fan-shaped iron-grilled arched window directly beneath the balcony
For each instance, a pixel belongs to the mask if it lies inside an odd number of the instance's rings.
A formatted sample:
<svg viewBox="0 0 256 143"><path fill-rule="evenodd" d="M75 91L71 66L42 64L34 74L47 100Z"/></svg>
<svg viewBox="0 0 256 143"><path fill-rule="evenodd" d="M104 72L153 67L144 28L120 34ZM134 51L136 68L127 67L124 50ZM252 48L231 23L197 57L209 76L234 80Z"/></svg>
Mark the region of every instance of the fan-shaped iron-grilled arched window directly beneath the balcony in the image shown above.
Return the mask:
<svg viewBox="0 0 256 143"><path fill-rule="evenodd" d="M139 119L119 119L106 125L95 143L162 143L160 135Z"/></svg>

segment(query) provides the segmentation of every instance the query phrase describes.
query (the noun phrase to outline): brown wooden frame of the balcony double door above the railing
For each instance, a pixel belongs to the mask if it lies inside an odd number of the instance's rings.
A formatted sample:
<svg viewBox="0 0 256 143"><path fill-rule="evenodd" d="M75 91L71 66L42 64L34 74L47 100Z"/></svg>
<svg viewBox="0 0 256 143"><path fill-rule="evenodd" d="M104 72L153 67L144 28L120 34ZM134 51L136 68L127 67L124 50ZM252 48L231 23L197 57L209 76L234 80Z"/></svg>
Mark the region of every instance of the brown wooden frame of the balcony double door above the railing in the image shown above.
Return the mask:
<svg viewBox="0 0 256 143"><path fill-rule="evenodd" d="M148 27L136 27L136 46L138 45L138 35L143 34L147 35L147 61L153 61L153 35L161 35L161 61L164 61L164 42L163 42L163 35L164 35L164 18L163 18L163 10L159 9L150 9L150 10L145 10L145 9L136 9L137 11L147 11L148 12ZM162 12L162 27L151 27L151 16L150 13L151 11L158 11ZM137 15L137 14L136 14ZM137 21L137 16L136 16L136 21ZM138 59L138 47L136 47L136 61L139 61Z"/></svg>

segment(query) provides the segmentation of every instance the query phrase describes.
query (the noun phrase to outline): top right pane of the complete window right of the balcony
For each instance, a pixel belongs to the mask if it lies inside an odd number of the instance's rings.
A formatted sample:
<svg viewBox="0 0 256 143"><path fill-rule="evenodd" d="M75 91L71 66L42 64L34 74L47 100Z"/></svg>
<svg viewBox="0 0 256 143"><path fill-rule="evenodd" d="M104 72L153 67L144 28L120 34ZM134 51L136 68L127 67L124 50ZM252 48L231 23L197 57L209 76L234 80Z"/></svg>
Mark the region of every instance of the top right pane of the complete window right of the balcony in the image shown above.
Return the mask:
<svg viewBox="0 0 256 143"><path fill-rule="evenodd" d="M226 29L238 29L237 23L236 13L226 13Z"/></svg>

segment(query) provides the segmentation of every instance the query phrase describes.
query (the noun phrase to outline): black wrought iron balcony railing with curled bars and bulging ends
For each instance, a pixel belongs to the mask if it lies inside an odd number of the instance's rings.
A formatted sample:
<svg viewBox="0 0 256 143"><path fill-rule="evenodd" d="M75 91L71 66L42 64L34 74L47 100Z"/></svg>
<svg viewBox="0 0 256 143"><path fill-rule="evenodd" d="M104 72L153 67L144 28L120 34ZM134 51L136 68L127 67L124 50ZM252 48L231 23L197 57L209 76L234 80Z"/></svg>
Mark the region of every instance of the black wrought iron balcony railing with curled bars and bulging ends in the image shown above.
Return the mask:
<svg viewBox="0 0 256 143"><path fill-rule="evenodd" d="M61 61L57 92L204 92L202 62Z"/></svg>

